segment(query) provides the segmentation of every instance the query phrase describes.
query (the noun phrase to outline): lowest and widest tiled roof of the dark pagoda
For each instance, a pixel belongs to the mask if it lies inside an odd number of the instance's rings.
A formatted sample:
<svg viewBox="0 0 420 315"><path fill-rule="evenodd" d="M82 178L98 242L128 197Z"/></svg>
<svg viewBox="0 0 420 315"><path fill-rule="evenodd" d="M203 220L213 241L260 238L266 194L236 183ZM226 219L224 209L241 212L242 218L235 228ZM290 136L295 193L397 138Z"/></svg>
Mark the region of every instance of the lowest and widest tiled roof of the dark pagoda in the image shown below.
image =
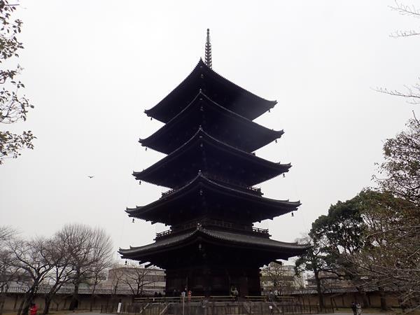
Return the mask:
<svg viewBox="0 0 420 315"><path fill-rule="evenodd" d="M123 258L135 258L138 255L151 255L159 251L167 251L172 246L181 246L181 244L189 243L197 238L216 241L218 243L223 242L226 246L258 248L258 250L265 251L281 251L283 253L288 253L289 257L299 255L309 247L307 244L287 243L265 237L211 230L197 226L197 230L192 232L159 239L158 241L155 241L155 243L145 246L130 246L130 248L127 249L120 248L118 252L123 255Z"/></svg>

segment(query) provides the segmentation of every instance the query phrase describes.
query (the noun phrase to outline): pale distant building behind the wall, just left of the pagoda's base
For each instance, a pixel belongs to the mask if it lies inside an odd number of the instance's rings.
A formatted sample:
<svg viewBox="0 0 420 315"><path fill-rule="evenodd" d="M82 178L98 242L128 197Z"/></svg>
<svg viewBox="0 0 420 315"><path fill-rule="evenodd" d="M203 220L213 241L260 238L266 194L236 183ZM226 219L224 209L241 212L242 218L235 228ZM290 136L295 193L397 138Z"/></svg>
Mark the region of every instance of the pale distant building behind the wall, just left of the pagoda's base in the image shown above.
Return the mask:
<svg viewBox="0 0 420 315"><path fill-rule="evenodd" d="M109 269L103 288L130 290L134 296L165 293L165 270L142 266L119 265Z"/></svg>

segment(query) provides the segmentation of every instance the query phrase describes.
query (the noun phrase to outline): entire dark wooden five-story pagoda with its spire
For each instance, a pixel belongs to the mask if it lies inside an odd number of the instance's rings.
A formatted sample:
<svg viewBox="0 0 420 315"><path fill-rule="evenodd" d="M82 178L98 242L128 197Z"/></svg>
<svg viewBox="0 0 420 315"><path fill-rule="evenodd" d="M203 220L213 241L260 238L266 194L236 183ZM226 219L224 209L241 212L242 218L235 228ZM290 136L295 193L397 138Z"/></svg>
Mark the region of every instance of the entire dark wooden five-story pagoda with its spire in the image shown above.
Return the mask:
<svg viewBox="0 0 420 315"><path fill-rule="evenodd" d="M166 294L260 295L260 267L299 255L307 246L269 239L253 223L296 211L300 202L262 197L258 183L288 172L253 151L281 137L253 120L276 102L262 99L211 69L206 58L147 116L165 123L142 146L167 154L140 181L170 188L151 204L127 209L130 217L170 225L155 243L120 249L123 258L166 270Z"/></svg>

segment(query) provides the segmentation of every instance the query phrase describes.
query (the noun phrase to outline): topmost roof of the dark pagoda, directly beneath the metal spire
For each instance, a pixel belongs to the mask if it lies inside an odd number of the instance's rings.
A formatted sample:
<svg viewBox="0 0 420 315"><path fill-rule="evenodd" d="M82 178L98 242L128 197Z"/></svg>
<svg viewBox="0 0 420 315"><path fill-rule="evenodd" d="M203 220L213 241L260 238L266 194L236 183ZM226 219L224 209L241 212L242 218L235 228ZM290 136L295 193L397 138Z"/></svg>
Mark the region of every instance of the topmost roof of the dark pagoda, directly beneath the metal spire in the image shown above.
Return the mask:
<svg viewBox="0 0 420 315"><path fill-rule="evenodd" d="M153 106L153 108L146 110L145 113L147 116L160 120L162 123L167 123L191 102L191 99L195 97L200 89L219 104L250 120L261 116L276 104L276 101L268 101L258 97L230 80L223 78L223 76L209 68L200 58L190 75L162 101ZM219 98L222 102L219 102Z"/></svg>

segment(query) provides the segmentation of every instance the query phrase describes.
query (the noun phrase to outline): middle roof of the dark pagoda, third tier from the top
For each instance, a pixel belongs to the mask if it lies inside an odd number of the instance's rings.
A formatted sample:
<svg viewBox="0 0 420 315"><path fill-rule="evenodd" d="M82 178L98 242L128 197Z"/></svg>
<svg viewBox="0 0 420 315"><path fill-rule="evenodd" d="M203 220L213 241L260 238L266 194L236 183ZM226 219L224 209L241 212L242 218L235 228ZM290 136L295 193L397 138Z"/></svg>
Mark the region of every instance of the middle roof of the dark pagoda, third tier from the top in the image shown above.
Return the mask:
<svg viewBox="0 0 420 315"><path fill-rule="evenodd" d="M212 151L212 154L207 156L206 162L203 162L202 159L202 151L207 150L207 146L204 146L204 143L208 144ZM217 155L217 158L215 154ZM220 161L223 161L223 163ZM162 158L162 160L156 162L154 165L151 165L151 167L144 169L142 172L133 172L133 176L138 180L154 183L158 186L175 188L185 185L185 183L193 179L195 174L200 170L202 172L210 172L210 170L208 171L206 168L209 167L209 165L213 165L211 162L214 162L215 165L218 165L218 167L221 168L229 161L231 162L229 165L230 171L232 171L231 175L228 174L228 177L230 178L232 178L232 176L239 176L235 175L239 173L233 172L234 168L238 172L239 169L249 169L253 171L249 172L249 174L245 174L245 171L241 172L240 181L246 186L254 186L263 181L268 181L269 179L279 176L279 174L288 172L288 169L291 167L290 163L281 164L270 162L263 158L258 158L251 153L234 148L233 146L211 137L200 127L193 137L185 144L165 158ZM193 163L195 164L193 165ZM174 176L168 176L168 172L172 172ZM211 172L213 172L213 170ZM175 174L178 175L175 176ZM180 180L183 182L180 182Z"/></svg>

